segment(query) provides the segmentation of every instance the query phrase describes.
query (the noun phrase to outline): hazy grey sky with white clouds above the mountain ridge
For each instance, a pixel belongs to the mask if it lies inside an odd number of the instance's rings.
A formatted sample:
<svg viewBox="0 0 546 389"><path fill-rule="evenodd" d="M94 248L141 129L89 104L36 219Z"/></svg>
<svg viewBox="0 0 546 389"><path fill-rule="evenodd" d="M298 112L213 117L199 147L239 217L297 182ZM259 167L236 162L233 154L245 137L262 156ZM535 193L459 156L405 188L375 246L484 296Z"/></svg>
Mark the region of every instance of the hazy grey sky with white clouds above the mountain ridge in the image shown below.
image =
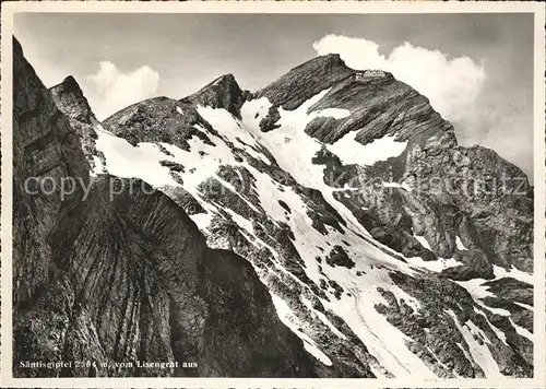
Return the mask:
<svg viewBox="0 0 546 389"><path fill-rule="evenodd" d="M340 52L429 97L460 143L492 148L532 174L532 14L21 13L14 34L44 83L72 74L99 119L225 73L253 91Z"/></svg>

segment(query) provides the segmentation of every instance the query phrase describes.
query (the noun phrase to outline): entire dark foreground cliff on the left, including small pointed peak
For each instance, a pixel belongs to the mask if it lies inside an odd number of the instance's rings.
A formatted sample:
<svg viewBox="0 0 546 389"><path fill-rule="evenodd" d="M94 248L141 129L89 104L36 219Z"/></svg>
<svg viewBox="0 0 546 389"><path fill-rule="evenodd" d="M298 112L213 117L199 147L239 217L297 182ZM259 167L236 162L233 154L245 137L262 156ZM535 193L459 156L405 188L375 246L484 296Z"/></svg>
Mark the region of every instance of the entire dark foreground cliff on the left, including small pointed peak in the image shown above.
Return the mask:
<svg viewBox="0 0 546 389"><path fill-rule="evenodd" d="M14 42L14 375L314 376L250 263L146 182L90 178L54 97L70 120L94 116L70 79L54 90Z"/></svg>

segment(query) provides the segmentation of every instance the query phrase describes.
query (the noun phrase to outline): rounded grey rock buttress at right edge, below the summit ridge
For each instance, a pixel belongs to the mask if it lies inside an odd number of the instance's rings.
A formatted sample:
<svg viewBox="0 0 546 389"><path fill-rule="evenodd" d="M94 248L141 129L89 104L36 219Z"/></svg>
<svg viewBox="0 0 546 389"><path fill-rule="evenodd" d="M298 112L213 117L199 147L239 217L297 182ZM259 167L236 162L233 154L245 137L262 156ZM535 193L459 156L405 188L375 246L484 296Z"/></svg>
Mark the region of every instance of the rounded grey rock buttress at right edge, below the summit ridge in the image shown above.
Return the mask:
<svg viewBox="0 0 546 389"><path fill-rule="evenodd" d="M532 271L533 197L525 174L483 148L447 148L440 138L440 144L432 139L419 149L408 153L405 177L416 177L420 191L437 204L438 232L430 236L435 252L448 258L461 251L452 244L458 235L467 249L482 252L482 261ZM423 217L417 220L424 225ZM483 278L491 275L482 269Z"/></svg>

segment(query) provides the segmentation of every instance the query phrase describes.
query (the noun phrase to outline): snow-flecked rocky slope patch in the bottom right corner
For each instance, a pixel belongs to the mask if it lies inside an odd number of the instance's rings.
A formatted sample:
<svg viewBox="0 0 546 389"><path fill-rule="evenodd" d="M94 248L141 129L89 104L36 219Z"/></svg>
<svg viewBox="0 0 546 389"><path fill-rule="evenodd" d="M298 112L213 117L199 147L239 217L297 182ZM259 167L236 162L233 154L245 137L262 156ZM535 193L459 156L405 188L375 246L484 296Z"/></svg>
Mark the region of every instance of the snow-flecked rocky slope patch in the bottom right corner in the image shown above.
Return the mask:
<svg viewBox="0 0 546 389"><path fill-rule="evenodd" d="M389 305L379 305L376 309L383 311L389 322L415 341L412 351L417 355L434 352L443 365L438 366L432 355L431 358L425 356L423 359L428 361L439 376L452 377L452 372L465 377L484 376L479 366L473 365L464 357L464 352L468 353L470 350L464 350L467 343L458 327L467 322L477 326L486 334L491 343L489 350L502 374L515 377L527 377L532 374L531 341L519 337L508 323L507 317L483 309L466 290L437 276L414 279L395 273L391 274L391 279L402 290L416 297L420 307L416 311L403 300L399 304L389 292L380 291ZM442 307L442 311L436 310L435 307L438 306ZM487 321L503 331L506 343L499 340Z"/></svg>

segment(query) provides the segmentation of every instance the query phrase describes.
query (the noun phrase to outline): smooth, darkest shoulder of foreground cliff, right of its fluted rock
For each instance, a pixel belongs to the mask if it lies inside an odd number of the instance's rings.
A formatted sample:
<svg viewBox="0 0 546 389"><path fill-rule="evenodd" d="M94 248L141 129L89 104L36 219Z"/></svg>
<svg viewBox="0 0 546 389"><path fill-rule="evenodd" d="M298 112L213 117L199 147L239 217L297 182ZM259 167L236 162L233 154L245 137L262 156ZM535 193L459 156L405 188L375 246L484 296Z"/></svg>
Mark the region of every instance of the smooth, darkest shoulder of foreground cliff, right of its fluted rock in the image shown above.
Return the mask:
<svg viewBox="0 0 546 389"><path fill-rule="evenodd" d="M313 362L295 347L299 339L278 320L265 322L276 318L276 311L252 266L232 251L214 250L207 258L203 279L211 304L204 347L213 362L202 375L314 376Z"/></svg>

